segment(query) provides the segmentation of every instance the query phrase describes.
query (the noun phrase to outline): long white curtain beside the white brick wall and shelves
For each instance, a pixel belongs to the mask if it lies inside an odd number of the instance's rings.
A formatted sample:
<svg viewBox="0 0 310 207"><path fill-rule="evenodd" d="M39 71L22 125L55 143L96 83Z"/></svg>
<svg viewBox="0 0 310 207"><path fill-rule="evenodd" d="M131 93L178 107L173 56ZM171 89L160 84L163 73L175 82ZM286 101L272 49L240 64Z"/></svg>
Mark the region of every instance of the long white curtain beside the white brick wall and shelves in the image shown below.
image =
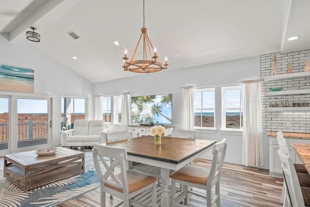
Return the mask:
<svg viewBox="0 0 310 207"><path fill-rule="evenodd" d="M243 147L242 163L245 166L263 166L261 82L242 82Z"/></svg>

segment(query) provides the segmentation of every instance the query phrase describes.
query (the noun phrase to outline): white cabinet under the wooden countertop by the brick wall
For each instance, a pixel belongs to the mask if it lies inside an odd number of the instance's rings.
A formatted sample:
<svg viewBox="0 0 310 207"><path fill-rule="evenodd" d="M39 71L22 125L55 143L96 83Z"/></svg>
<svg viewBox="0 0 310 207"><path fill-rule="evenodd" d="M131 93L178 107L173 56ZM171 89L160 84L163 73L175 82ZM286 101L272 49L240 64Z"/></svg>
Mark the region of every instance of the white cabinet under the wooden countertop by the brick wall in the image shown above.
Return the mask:
<svg viewBox="0 0 310 207"><path fill-rule="evenodd" d="M308 139L291 139L285 138L286 143L289 145L289 152L292 156L294 163L302 164L298 155L296 154L292 143L310 143ZM272 177L283 178L283 172L281 167L281 160L278 154L279 145L276 137L269 137L269 175Z"/></svg>

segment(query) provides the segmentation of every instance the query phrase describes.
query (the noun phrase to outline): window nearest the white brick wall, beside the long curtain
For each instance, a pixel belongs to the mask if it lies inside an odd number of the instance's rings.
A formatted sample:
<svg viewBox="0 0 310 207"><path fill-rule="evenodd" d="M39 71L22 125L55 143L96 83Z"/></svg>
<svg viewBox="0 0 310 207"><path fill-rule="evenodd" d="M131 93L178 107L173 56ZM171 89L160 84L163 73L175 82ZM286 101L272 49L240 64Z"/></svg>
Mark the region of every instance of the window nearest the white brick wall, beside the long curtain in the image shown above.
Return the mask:
<svg viewBox="0 0 310 207"><path fill-rule="evenodd" d="M222 87L222 128L243 128L241 86Z"/></svg>

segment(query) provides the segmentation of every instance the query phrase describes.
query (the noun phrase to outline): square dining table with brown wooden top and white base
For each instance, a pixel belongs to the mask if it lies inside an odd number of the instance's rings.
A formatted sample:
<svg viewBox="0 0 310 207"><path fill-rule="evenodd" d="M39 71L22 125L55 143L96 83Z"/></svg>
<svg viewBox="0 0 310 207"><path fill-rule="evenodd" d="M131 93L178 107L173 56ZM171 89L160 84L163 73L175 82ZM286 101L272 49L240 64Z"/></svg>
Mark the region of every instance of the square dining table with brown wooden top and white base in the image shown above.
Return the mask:
<svg viewBox="0 0 310 207"><path fill-rule="evenodd" d="M160 206L169 207L170 170L178 170L199 158L209 151L214 143L216 141L213 140L163 137L161 144L157 145L153 136L142 136L104 144L126 148L128 161L159 167L160 182L163 188Z"/></svg>

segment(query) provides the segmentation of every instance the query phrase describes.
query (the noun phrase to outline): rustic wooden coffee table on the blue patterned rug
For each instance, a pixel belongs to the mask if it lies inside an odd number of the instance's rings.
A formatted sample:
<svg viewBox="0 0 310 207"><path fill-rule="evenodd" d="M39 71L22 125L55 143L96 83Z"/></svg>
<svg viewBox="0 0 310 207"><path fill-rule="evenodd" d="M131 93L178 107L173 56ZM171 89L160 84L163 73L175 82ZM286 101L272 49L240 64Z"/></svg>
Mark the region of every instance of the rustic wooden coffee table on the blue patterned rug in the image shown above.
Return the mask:
<svg viewBox="0 0 310 207"><path fill-rule="evenodd" d="M84 173L84 153L58 147L53 155L38 156L34 151L4 156L4 177L24 191Z"/></svg>

